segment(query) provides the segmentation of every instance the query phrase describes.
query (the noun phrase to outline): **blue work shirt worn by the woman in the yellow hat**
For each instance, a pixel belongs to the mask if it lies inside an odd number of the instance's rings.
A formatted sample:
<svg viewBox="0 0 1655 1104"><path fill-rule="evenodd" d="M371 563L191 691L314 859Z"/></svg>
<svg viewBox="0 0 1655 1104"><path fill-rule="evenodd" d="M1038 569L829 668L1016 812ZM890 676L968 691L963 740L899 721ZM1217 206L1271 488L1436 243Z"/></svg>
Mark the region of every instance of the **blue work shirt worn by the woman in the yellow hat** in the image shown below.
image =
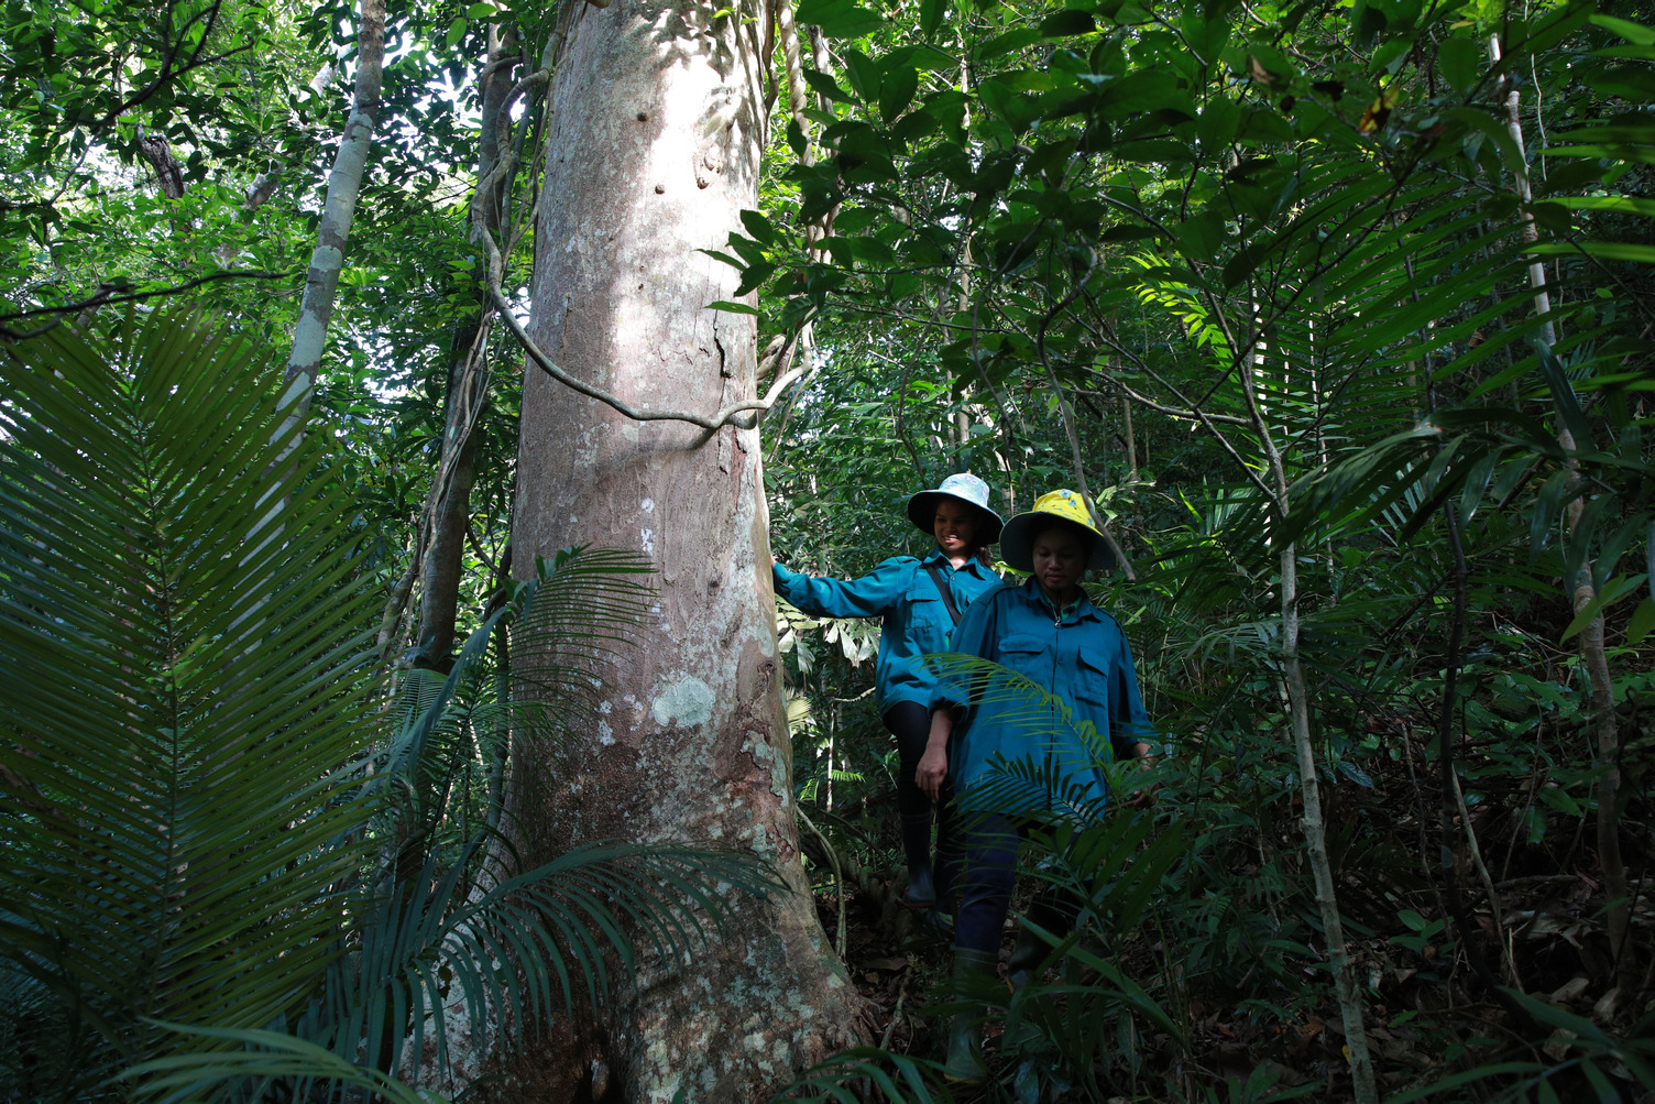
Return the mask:
<svg viewBox="0 0 1655 1104"><path fill-rule="evenodd" d="M1054 707L1005 677L938 679L932 708L965 708L948 742L948 778L967 808L1054 808L1053 786L1056 804L1096 808L1109 794L1099 760L1132 758L1134 745L1155 738L1125 632L1084 594L1059 614L1034 579L1006 583L976 599L953 632L953 650L1010 667L1071 712L1071 720L1063 720ZM1094 738L1082 722L1091 722ZM993 770L996 760L1024 760L1034 770L1026 783L1010 785L1005 771ZM983 788L990 776L995 798ZM1003 804L1013 808L998 808Z"/></svg>

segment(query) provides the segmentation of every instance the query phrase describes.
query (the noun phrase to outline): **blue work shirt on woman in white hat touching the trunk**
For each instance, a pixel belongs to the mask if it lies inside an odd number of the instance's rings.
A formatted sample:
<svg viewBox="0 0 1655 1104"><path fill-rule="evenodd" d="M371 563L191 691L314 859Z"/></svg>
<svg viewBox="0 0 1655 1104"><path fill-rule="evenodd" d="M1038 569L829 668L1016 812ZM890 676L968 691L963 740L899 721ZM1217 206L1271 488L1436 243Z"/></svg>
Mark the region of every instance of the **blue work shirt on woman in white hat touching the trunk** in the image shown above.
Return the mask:
<svg viewBox="0 0 1655 1104"><path fill-rule="evenodd" d="M811 617L884 617L874 667L880 715L899 702L930 707L937 675L919 659L948 650L953 617L925 564L942 569L962 616L978 594L1000 584L1000 576L976 559L955 569L940 548L925 559L894 556L849 581L818 579L780 563L775 568L776 594Z"/></svg>

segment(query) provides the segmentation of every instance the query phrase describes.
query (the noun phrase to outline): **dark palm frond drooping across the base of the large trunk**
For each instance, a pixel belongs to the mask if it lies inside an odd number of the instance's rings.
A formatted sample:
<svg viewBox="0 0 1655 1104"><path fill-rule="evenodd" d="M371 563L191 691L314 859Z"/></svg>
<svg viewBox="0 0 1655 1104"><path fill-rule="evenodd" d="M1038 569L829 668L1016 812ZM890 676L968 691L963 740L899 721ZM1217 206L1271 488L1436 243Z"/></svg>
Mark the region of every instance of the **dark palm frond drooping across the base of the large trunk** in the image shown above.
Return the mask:
<svg viewBox="0 0 1655 1104"><path fill-rule="evenodd" d="M405 1064L407 1044L447 1076L450 1018L478 1053L511 1046L581 996L606 993L609 955L624 973L639 940L660 960L682 960L741 895L783 889L746 854L640 844L578 847L490 882L498 859L487 842L447 864L434 856L387 887L353 925L353 950L331 970L328 998L296 1025L300 1036L384 1069Z"/></svg>

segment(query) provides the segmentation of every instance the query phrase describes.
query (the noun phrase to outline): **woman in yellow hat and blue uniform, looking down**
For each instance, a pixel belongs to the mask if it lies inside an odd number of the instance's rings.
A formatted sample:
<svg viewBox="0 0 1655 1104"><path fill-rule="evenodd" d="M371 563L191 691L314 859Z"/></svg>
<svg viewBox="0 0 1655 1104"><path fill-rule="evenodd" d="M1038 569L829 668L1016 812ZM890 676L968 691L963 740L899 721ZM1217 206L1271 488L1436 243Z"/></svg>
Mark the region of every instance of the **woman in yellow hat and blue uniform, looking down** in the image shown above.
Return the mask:
<svg viewBox="0 0 1655 1104"><path fill-rule="evenodd" d="M930 794L950 783L960 806L967 874L953 929L957 977L995 970L1016 882L1019 829L1036 811L1033 804L1058 793L1063 808L1041 811L1096 813L1109 794L1099 758L1140 758L1154 735L1125 634L1081 589L1087 568L1114 566L1081 497L1071 490L1041 495L1033 510L1006 523L1000 550L1010 566L1033 578L980 598L955 631L953 650L1024 675L1063 700L1074 723L1061 722L1054 710L1043 715L1031 708L1026 694L1003 692L991 675L938 682L917 781ZM1079 722L1091 722L1097 742L1082 738ZM1005 780L995 765L1016 760L1043 766L1054 790L1019 793L1000 785L991 796L990 780ZM1008 796L1016 796L1019 808L1006 806ZM947 1073L962 1081L983 1074L970 1015L957 1018L950 1031Z"/></svg>

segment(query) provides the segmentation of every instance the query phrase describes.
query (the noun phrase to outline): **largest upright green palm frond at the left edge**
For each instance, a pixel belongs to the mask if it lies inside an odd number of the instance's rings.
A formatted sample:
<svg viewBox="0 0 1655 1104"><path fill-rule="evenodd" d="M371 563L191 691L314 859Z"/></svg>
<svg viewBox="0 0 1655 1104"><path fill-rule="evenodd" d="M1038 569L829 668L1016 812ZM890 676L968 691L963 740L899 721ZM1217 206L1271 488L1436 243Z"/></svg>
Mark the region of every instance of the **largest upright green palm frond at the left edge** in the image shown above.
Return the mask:
<svg viewBox="0 0 1655 1104"><path fill-rule="evenodd" d="M61 328L0 379L0 953L132 1059L154 1021L263 1028L319 985L314 905L366 856L346 488L275 367L200 323Z"/></svg>

